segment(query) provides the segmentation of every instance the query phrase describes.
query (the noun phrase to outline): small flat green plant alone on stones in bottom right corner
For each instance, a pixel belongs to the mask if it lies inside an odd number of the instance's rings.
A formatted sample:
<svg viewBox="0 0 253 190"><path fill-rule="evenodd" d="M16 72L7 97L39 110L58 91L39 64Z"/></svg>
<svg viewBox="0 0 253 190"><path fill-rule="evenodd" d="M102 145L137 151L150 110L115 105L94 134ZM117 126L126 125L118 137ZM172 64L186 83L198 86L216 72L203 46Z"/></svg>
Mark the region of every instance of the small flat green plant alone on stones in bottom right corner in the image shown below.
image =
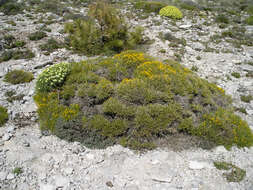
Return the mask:
<svg viewBox="0 0 253 190"><path fill-rule="evenodd" d="M214 166L218 170L230 170L228 173L224 173L224 177L228 182L240 182L246 176L246 171L227 162L214 162Z"/></svg>

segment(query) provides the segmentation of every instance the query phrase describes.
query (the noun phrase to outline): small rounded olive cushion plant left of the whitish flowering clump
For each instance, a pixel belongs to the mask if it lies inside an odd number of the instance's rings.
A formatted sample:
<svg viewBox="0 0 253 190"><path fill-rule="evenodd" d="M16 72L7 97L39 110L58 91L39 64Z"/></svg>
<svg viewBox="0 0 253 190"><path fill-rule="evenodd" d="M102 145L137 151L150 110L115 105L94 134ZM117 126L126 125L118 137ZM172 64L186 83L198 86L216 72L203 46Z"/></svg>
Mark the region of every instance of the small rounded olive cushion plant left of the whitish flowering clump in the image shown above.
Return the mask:
<svg viewBox="0 0 253 190"><path fill-rule="evenodd" d="M31 82L33 78L34 77L31 72L26 72L23 70L13 70L5 75L4 81L11 84L20 84Z"/></svg>

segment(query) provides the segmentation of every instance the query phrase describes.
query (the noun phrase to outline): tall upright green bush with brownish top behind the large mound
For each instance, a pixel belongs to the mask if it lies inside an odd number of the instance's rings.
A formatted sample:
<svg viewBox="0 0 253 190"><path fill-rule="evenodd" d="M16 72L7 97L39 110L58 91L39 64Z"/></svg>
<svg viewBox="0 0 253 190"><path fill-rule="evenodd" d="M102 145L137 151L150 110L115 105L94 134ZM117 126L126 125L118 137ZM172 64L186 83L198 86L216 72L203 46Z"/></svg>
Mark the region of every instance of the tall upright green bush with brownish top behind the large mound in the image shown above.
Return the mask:
<svg viewBox="0 0 253 190"><path fill-rule="evenodd" d="M105 1L89 6L89 18L65 25L67 43L74 50L96 55L132 49L142 43L143 29L129 29L123 15Z"/></svg>

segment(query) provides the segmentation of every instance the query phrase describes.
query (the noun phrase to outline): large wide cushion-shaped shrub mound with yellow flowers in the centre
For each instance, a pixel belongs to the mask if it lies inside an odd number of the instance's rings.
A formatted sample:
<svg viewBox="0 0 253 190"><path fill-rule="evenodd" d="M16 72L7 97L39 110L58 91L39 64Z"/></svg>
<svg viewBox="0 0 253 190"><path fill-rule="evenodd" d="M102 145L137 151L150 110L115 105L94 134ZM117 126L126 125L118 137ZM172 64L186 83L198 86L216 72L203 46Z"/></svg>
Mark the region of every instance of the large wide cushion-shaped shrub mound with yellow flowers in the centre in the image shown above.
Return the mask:
<svg viewBox="0 0 253 190"><path fill-rule="evenodd" d="M253 144L252 131L233 113L224 90L175 61L125 51L71 63L67 71L58 85L34 97L41 129L60 138L92 148L119 143L137 150L155 148L175 134L227 148ZM51 84L50 76L40 77L37 89Z"/></svg>

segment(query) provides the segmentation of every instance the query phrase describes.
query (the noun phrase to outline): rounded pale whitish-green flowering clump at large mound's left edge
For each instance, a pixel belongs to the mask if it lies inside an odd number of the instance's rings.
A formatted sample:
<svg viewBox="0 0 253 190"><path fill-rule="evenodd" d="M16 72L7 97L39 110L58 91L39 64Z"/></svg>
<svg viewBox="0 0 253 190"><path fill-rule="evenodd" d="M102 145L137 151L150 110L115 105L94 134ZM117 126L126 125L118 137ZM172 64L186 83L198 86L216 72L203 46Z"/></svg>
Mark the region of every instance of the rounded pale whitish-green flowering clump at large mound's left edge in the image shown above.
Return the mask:
<svg viewBox="0 0 253 190"><path fill-rule="evenodd" d="M39 75L36 90L49 92L61 86L69 72L68 63L59 63L48 67Z"/></svg>

